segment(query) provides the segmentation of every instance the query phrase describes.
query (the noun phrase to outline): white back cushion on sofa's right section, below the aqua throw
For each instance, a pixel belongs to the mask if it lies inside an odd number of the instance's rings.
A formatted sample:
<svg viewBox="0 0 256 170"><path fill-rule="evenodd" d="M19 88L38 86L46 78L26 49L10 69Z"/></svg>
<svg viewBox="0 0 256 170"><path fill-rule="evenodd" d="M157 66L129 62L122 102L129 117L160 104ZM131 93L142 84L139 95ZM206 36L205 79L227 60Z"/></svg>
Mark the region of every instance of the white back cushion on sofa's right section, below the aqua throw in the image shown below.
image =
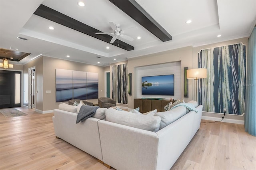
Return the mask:
<svg viewBox="0 0 256 170"><path fill-rule="evenodd" d="M170 125L172 122L176 121L180 117L186 115L186 107L179 106L170 111L158 112L155 116L161 117L160 129Z"/></svg>

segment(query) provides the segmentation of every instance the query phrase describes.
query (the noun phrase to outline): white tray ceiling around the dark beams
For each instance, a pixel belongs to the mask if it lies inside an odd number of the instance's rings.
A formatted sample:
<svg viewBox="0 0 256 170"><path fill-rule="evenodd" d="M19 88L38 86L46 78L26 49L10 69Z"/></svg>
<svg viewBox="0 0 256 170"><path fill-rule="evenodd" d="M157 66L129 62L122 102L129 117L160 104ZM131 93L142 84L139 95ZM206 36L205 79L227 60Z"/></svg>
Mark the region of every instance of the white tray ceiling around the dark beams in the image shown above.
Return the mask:
<svg viewBox="0 0 256 170"><path fill-rule="evenodd" d="M81 0L84 7L78 6L78 1L0 0L0 48L31 53L19 62L12 61L15 64L43 55L106 66L179 47L248 37L256 24L256 0L136 0L172 36L171 41L162 42L108 0ZM126 51L34 15L40 4L102 32L112 32L108 22L119 24L124 34L134 38L132 42L120 40L134 46L134 50ZM192 23L186 24L188 19Z"/></svg>

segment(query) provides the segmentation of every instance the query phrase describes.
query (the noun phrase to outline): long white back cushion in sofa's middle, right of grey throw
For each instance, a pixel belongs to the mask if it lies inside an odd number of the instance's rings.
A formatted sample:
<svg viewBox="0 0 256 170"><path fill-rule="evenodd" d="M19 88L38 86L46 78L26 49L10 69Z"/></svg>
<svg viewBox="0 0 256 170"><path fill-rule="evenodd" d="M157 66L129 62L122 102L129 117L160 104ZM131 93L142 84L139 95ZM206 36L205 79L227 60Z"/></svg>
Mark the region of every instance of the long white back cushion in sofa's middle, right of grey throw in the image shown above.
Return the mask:
<svg viewBox="0 0 256 170"><path fill-rule="evenodd" d="M157 132L160 127L161 118L109 108L106 110L106 121Z"/></svg>

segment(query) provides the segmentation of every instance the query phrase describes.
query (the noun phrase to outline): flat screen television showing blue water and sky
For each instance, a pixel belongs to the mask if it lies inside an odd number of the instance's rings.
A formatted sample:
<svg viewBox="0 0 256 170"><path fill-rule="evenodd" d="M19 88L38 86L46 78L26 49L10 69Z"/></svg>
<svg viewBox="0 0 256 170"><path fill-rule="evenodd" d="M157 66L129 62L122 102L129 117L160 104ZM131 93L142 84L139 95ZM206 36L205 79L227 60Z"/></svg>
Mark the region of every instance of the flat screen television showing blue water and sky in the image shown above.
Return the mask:
<svg viewBox="0 0 256 170"><path fill-rule="evenodd" d="M141 77L142 95L174 95L174 75Z"/></svg>

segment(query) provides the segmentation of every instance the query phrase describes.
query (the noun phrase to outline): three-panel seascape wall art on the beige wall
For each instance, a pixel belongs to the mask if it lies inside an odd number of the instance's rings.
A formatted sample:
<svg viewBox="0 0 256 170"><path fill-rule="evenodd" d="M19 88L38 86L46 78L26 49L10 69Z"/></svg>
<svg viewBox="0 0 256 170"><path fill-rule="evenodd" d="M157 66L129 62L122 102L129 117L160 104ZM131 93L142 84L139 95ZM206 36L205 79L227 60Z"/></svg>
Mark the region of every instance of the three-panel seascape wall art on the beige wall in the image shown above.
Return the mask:
<svg viewBox="0 0 256 170"><path fill-rule="evenodd" d="M98 99L98 73L56 69L56 102Z"/></svg>

